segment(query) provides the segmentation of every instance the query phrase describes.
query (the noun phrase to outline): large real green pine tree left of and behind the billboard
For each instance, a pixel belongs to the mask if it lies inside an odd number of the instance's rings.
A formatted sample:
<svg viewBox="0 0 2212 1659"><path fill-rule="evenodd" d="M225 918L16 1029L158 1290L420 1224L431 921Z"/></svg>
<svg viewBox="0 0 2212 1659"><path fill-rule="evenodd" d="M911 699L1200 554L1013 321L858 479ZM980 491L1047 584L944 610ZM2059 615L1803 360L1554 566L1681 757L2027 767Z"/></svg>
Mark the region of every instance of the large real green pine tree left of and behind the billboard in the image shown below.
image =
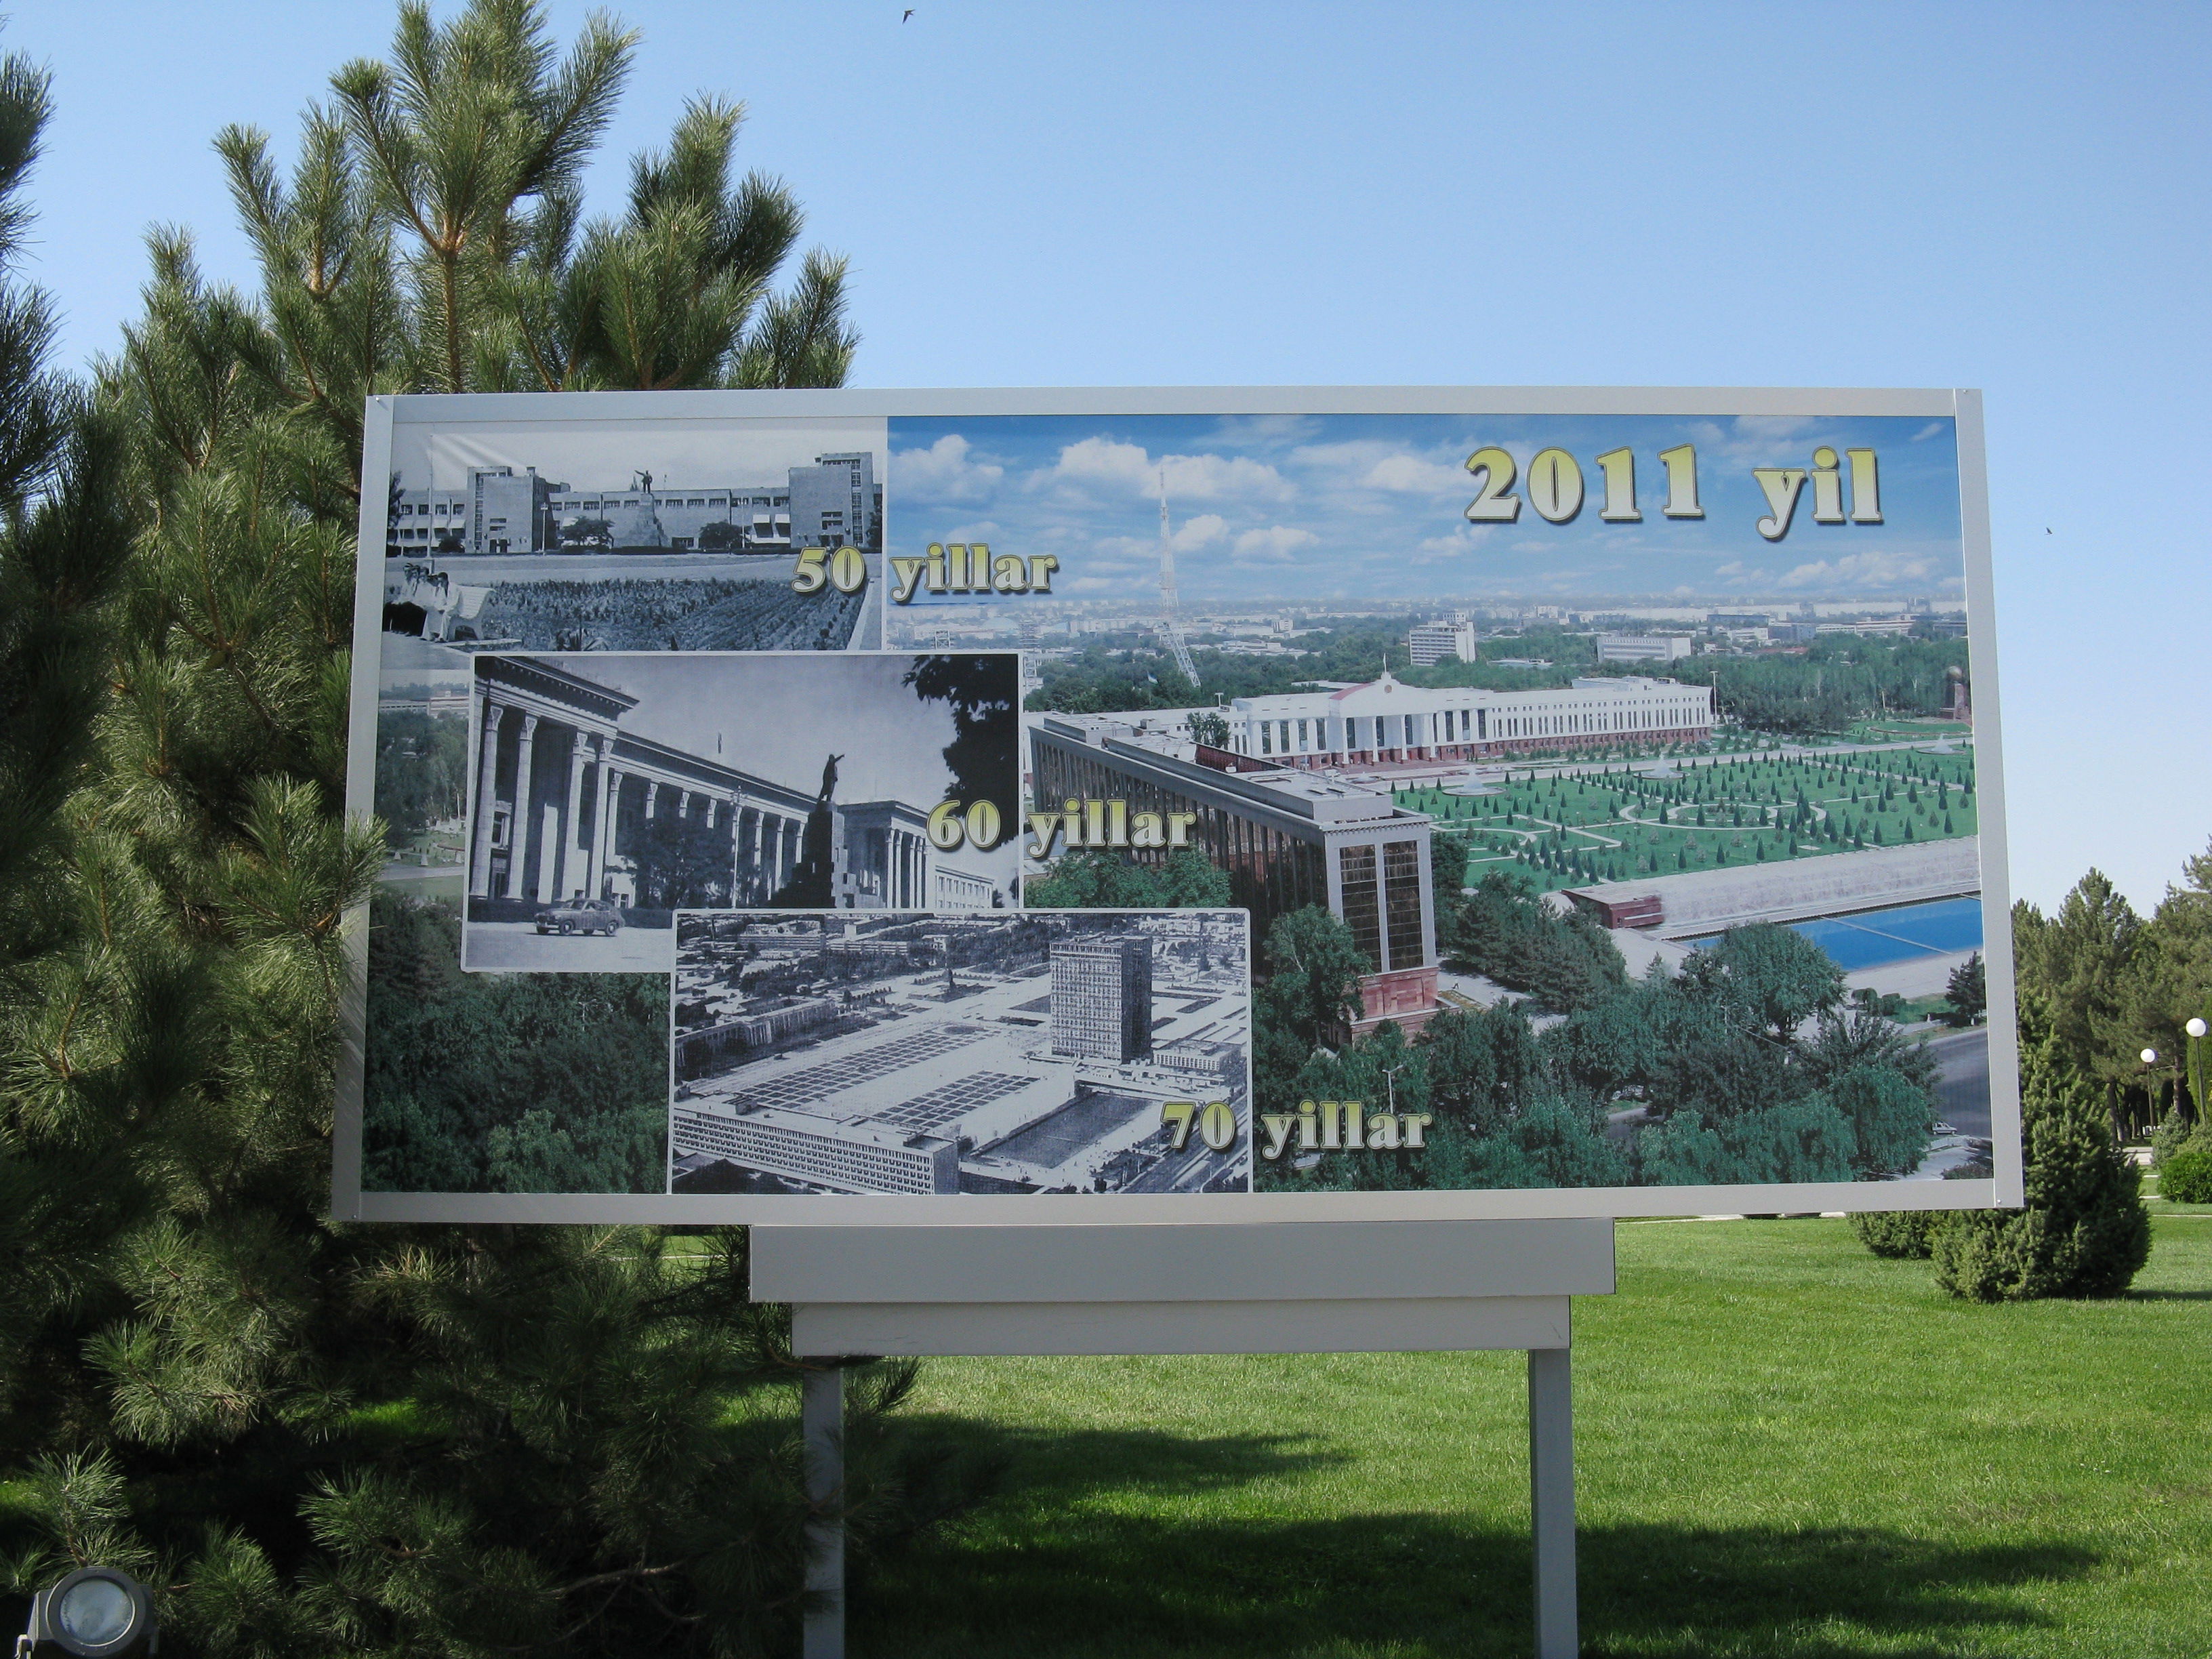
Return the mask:
<svg viewBox="0 0 2212 1659"><path fill-rule="evenodd" d="M288 184L219 139L261 290L157 237L97 398L0 294L0 1546L15 1590L150 1575L188 1655L723 1655L796 1617L799 1365L741 1232L327 1219L343 925L383 863L341 816L361 400L522 376L518 272L566 281L630 51L593 22L562 58L529 0L405 7ZM0 62L0 257L42 119ZM573 246L699 303L564 385L838 378L834 261L770 296L796 210L728 188L728 108L684 122ZM969 1491L887 1438L909 1383L854 1391L863 1537Z"/></svg>

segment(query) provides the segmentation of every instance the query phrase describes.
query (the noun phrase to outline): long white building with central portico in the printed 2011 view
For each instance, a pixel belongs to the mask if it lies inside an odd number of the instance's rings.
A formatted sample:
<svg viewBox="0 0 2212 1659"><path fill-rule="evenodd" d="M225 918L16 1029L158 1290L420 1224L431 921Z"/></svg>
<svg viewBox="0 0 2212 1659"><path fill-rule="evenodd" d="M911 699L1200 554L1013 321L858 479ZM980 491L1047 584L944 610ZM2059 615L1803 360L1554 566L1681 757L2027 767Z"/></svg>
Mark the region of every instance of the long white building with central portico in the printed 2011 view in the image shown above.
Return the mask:
<svg viewBox="0 0 2212 1659"><path fill-rule="evenodd" d="M1407 686L1389 672L1365 686L1239 697L1230 750L1279 765L1482 761L1500 754L1624 743L1703 743L1712 688L1617 675L1573 686L1495 692Z"/></svg>

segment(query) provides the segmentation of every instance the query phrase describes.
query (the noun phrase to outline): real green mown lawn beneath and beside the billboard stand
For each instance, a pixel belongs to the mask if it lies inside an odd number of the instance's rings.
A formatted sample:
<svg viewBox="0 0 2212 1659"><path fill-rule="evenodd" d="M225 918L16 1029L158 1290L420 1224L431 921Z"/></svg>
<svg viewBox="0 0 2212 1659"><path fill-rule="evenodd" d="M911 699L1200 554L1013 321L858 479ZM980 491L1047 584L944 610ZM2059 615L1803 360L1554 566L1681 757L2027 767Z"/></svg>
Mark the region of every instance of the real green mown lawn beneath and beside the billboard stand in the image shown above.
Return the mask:
<svg viewBox="0 0 2212 1659"><path fill-rule="evenodd" d="M2112 1303L1953 1303L1843 1221L1624 1223L1577 1303L1590 1655L2212 1648L2212 1210ZM1378 1263L1380 1265L1380 1263ZM856 1659L1528 1652L1520 1354L933 1360L1002 1451Z"/></svg>

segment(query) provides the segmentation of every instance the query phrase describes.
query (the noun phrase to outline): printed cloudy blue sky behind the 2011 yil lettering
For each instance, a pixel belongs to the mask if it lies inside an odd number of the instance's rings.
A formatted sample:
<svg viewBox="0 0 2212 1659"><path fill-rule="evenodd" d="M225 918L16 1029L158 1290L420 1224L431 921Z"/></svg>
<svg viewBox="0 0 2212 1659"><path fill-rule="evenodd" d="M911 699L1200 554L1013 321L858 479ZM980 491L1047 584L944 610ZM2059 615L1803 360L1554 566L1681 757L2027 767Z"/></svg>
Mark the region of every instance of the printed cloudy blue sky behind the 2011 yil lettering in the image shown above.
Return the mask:
<svg viewBox="0 0 2212 1659"><path fill-rule="evenodd" d="M1513 522L1473 524L1467 460L1513 456ZM1666 518L1661 451L1697 458L1703 518ZM1803 495L1778 540L1754 467L1874 449L1880 524L1816 524ZM1577 458L1584 504L1553 524L1528 462ZM1635 458L1637 522L1601 518L1595 458ZM894 553L989 542L1060 560L1053 591L1152 602L1159 489L1190 604L1261 599L1962 599L1951 420L1652 416L1004 416L894 420ZM927 593L916 599L927 604ZM953 604L960 604L953 599ZM1011 604L1020 604L1018 599Z"/></svg>

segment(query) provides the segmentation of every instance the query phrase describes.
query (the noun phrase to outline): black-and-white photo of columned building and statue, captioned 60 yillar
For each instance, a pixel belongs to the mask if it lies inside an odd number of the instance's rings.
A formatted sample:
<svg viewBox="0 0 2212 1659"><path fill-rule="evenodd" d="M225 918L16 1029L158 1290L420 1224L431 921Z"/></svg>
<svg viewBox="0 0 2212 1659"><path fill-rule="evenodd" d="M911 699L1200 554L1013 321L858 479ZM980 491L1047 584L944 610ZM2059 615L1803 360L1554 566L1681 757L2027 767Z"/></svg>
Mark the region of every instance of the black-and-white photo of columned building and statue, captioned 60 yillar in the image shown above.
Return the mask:
<svg viewBox="0 0 2212 1659"><path fill-rule="evenodd" d="M1013 653L480 653L473 971L675 964L677 909L1015 905Z"/></svg>

